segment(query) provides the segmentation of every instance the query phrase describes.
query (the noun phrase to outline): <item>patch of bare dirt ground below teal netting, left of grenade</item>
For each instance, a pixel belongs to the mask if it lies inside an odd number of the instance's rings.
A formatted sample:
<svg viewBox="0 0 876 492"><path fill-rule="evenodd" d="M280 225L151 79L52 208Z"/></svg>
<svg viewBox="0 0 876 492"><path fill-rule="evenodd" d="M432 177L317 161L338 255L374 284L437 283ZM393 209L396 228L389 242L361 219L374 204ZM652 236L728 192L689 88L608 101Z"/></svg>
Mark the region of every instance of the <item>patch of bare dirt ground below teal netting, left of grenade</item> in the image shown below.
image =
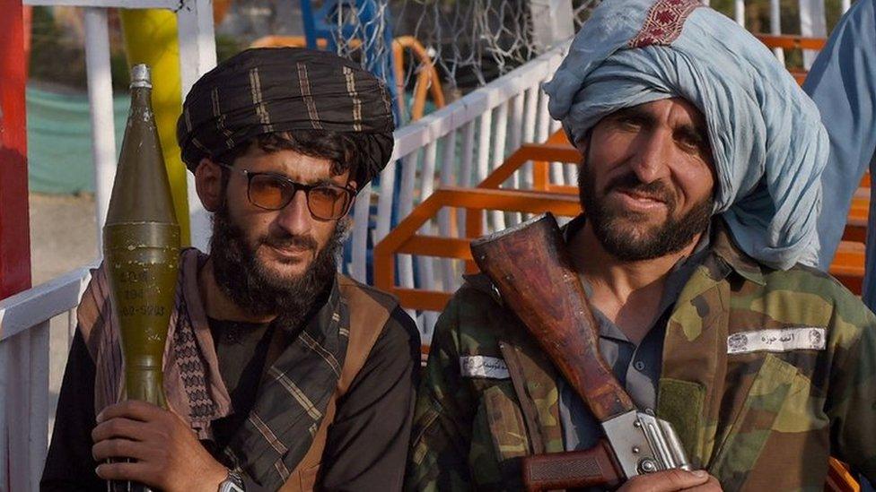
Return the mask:
<svg viewBox="0 0 876 492"><path fill-rule="evenodd" d="M31 194L30 205L32 285L97 259L92 195Z"/></svg>

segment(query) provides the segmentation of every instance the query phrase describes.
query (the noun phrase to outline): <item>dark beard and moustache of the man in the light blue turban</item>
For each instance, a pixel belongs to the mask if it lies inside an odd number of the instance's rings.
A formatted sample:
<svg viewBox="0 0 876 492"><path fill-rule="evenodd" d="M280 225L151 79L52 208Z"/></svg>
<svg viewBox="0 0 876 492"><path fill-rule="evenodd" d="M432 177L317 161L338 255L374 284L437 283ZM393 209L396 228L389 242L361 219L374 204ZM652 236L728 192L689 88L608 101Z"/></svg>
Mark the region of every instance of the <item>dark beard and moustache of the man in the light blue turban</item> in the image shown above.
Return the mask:
<svg viewBox="0 0 876 492"><path fill-rule="evenodd" d="M642 183L634 173L613 179L605 188L609 194L615 188L635 190L659 198L667 205L667 219L660 226L641 234L625 230L626 224L635 224L643 217L636 212L614 211L605 207L596 195L596 184L586 162L578 175L578 190L584 214L591 221L593 233L602 247L619 260L637 262L677 253L689 246L697 234L708 228L712 220L714 199L710 195L694 204L685 215L676 218L676 200L661 181ZM604 195L603 195L604 196Z"/></svg>

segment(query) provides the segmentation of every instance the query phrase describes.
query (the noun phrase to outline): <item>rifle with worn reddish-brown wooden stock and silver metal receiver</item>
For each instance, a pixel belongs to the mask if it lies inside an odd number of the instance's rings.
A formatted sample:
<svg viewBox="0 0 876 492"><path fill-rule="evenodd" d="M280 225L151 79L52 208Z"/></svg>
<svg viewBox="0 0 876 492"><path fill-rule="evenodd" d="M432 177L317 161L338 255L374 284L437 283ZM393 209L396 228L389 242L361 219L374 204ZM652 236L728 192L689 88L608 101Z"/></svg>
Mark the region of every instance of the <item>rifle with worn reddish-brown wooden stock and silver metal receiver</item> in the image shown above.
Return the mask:
<svg viewBox="0 0 876 492"><path fill-rule="evenodd" d="M471 252L606 434L586 451L524 458L528 490L615 487L636 475L690 469L671 424L636 410L600 355L596 319L553 215L472 241Z"/></svg>

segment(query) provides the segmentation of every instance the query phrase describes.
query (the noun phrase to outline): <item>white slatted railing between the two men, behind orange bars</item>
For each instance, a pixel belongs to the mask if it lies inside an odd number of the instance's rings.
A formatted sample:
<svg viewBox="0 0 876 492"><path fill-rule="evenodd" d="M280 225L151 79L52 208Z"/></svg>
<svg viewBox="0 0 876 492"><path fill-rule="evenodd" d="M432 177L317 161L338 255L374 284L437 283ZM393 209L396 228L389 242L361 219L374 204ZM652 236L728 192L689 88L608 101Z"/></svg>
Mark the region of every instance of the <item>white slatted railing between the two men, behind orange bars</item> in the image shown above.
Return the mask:
<svg viewBox="0 0 876 492"><path fill-rule="evenodd" d="M505 157L524 142L543 142L559 128L548 115L548 98L541 84L548 80L565 56L568 42L531 60L485 87L469 93L445 108L435 111L395 133L393 158L381 174L380 186L366 186L357 197L354 209L353 255L348 272L357 280L367 278L366 245L377 244L390 232L393 218L401 220L427 198L436 186L474 186ZM400 169L399 169L400 168ZM555 167L555 180L564 183L574 171ZM400 182L397 183L397 175ZM515 185L528 187L530 175L515 176ZM518 183L520 179L524 181ZM394 191L398 198L394 198ZM376 210L376 216L373 212ZM373 219L372 219L373 216ZM462 237L450 211L425 224L446 237ZM519 218L515 214L491 212L487 224L504 229ZM450 260L399 255L399 284L428 289L434 285L451 290L459 287L460 268ZM416 271L416 275L415 275ZM425 341L437 313L417 317Z"/></svg>

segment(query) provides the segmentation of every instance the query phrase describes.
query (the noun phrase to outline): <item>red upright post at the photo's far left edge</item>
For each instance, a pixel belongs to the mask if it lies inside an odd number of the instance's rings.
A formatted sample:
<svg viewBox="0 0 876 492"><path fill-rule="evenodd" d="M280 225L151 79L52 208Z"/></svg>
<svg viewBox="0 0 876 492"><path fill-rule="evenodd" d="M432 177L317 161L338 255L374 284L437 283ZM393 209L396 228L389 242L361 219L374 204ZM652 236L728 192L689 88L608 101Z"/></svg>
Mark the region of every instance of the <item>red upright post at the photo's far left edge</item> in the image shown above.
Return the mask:
<svg viewBox="0 0 876 492"><path fill-rule="evenodd" d="M24 17L21 0L0 0L0 299L31 287ZM2 484L0 484L2 485Z"/></svg>

